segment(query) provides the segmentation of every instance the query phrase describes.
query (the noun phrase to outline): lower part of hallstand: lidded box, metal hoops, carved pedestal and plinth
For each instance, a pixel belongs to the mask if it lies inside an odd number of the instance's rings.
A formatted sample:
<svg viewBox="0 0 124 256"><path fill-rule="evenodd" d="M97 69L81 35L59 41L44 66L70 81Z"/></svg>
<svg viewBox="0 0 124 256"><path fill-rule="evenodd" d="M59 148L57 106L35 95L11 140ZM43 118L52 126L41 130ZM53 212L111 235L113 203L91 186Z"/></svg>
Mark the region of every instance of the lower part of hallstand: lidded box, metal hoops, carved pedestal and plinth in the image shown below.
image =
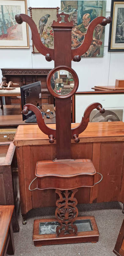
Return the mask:
<svg viewBox="0 0 124 256"><path fill-rule="evenodd" d="M96 173L89 159L37 162L35 169L37 187L32 190L54 188L59 198L56 200L56 219L34 221L35 246L98 241L99 232L94 216L78 217L77 199L74 197L77 188L95 185Z"/></svg>

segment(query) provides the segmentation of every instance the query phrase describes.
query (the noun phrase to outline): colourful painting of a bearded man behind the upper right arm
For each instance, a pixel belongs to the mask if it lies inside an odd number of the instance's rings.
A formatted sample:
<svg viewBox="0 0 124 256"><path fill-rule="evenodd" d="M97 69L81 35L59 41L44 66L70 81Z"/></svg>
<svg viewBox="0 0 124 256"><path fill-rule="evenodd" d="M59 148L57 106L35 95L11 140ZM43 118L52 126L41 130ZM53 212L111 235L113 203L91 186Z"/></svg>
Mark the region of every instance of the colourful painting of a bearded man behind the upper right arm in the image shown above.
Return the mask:
<svg viewBox="0 0 124 256"><path fill-rule="evenodd" d="M61 10L69 14L69 21L73 21L72 49L79 47L92 20L106 15L106 1L97 0L62 0ZM93 40L82 57L103 57L105 28L98 24L93 32Z"/></svg>

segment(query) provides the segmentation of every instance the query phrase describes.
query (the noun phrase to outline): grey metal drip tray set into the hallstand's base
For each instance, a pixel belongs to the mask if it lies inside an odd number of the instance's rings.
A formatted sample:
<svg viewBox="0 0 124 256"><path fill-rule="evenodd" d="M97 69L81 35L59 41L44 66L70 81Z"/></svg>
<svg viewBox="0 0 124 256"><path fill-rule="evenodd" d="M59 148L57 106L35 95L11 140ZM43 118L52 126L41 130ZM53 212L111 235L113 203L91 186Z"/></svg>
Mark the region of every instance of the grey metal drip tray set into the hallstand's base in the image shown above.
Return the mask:
<svg viewBox="0 0 124 256"><path fill-rule="evenodd" d="M58 226L58 221L50 221L50 222L40 222L39 223L39 235L45 234L56 234L56 228ZM78 228L78 232L83 231L93 231L91 221L87 220L76 220L74 221Z"/></svg>

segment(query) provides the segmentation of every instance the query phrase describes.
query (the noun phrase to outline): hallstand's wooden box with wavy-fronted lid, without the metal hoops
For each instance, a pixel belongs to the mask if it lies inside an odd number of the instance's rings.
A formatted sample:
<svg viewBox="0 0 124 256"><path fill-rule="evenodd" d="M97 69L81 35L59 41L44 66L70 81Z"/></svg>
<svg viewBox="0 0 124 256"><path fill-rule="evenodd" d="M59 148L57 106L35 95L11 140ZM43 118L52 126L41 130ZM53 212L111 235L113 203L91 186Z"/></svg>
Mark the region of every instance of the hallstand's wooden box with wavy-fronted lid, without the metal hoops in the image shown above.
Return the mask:
<svg viewBox="0 0 124 256"><path fill-rule="evenodd" d="M38 189L92 187L95 174L90 159L38 161L35 169Z"/></svg>

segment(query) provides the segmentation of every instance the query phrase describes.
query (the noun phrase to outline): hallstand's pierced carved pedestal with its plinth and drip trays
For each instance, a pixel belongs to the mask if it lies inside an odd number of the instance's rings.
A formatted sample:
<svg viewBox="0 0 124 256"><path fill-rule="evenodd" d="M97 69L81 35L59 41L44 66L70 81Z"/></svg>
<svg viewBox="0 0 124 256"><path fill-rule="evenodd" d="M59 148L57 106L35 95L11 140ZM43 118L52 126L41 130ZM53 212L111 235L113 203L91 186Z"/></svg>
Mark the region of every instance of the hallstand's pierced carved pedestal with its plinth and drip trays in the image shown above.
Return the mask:
<svg viewBox="0 0 124 256"><path fill-rule="evenodd" d="M33 241L35 246L51 244L96 243L99 232L94 216L77 217L78 191L58 190L56 219L34 220ZM86 228L87 226L87 228Z"/></svg>

